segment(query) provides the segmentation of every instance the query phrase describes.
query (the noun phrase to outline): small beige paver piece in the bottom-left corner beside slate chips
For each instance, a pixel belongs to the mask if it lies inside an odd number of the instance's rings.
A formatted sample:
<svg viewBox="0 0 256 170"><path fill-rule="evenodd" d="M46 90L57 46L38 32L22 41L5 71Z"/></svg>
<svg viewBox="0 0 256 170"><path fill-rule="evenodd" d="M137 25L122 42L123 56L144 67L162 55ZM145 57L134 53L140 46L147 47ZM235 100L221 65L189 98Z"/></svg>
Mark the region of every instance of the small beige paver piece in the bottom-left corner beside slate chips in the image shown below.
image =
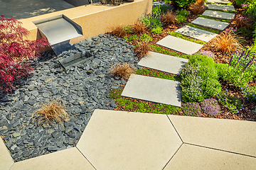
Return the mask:
<svg viewBox="0 0 256 170"><path fill-rule="evenodd" d="M0 137L0 170L9 169L12 164L14 164L14 160Z"/></svg>

